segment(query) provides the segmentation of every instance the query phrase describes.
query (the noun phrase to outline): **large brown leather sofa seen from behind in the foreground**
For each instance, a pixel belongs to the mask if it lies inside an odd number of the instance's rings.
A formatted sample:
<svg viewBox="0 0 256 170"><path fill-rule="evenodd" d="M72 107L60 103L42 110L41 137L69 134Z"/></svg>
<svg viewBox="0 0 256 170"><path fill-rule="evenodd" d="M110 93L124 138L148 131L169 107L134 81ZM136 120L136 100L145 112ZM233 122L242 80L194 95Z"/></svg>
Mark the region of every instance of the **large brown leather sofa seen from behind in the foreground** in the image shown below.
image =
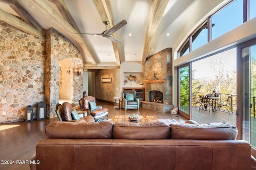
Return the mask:
<svg viewBox="0 0 256 170"><path fill-rule="evenodd" d="M228 123L52 122L31 170L250 170L251 146Z"/></svg>

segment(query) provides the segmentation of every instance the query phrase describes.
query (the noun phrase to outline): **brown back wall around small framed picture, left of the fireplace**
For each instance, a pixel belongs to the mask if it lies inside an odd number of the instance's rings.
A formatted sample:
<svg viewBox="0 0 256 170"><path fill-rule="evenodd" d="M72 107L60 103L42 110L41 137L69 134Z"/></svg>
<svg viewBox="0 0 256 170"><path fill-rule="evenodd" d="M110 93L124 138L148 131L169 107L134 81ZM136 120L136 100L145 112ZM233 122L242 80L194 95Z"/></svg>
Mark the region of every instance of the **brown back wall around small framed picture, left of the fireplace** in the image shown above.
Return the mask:
<svg viewBox="0 0 256 170"><path fill-rule="evenodd" d="M111 77L111 83L102 83L101 78ZM95 73L95 98L113 101L114 97L121 97L120 69L102 69ZM98 90L97 90L98 89ZM118 90L116 90L118 89Z"/></svg>

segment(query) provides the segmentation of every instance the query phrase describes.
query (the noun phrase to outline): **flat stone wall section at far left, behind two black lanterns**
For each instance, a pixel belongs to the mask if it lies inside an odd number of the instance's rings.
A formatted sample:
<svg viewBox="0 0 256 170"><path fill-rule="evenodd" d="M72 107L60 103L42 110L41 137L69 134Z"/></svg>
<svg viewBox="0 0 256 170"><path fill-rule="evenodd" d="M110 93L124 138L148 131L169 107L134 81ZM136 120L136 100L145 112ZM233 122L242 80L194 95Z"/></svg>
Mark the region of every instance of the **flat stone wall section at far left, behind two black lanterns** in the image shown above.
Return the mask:
<svg viewBox="0 0 256 170"><path fill-rule="evenodd" d="M24 121L44 101L45 39L0 21L0 123ZM6 113L6 115L3 115Z"/></svg>

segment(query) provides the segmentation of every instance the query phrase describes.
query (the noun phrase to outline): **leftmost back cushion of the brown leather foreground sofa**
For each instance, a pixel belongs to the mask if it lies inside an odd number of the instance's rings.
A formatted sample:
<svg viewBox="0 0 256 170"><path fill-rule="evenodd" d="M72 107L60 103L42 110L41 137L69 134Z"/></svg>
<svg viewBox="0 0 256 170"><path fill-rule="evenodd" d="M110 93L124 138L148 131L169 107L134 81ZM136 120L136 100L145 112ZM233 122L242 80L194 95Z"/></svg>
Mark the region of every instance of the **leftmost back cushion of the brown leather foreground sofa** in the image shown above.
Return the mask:
<svg viewBox="0 0 256 170"><path fill-rule="evenodd" d="M45 128L47 139L112 139L114 123L55 121Z"/></svg>

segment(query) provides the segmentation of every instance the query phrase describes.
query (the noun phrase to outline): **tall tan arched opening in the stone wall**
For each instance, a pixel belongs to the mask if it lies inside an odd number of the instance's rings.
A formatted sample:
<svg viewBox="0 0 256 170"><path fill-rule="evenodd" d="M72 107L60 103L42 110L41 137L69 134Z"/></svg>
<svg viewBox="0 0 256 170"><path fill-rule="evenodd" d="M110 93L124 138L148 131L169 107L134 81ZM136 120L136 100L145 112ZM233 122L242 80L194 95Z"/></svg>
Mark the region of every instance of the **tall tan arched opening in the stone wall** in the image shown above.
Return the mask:
<svg viewBox="0 0 256 170"><path fill-rule="evenodd" d="M72 103L73 98L73 66L70 59L63 59L60 61L60 91L59 102Z"/></svg>

